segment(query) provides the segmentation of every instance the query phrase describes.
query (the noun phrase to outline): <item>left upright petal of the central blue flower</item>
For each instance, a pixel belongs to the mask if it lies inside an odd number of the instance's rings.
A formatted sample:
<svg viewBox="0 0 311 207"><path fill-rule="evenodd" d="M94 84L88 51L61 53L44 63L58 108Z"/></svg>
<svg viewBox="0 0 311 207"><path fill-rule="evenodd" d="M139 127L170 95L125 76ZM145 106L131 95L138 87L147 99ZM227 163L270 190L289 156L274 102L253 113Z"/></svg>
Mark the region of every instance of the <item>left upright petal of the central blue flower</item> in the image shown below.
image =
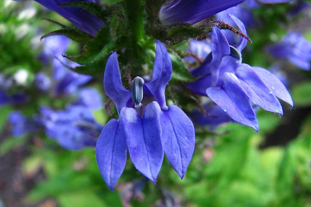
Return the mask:
<svg viewBox="0 0 311 207"><path fill-rule="evenodd" d="M120 115L121 109L131 99L132 92L126 90L122 85L116 52L112 53L107 60L104 73L104 89L107 96L114 101L118 114Z"/></svg>

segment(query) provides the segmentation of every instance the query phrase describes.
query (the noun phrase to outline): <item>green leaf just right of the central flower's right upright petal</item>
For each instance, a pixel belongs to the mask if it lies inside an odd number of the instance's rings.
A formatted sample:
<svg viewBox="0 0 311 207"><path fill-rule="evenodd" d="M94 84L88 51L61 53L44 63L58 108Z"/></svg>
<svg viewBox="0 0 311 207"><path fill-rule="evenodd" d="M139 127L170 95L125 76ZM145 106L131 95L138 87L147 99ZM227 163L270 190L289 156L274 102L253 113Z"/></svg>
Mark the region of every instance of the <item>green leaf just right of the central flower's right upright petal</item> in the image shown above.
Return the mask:
<svg viewBox="0 0 311 207"><path fill-rule="evenodd" d="M178 54L170 51L169 56L172 60L173 74L172 78L183 82L192 82L196 79L190 74L186 66L183 64L183 60Z"/></svg>

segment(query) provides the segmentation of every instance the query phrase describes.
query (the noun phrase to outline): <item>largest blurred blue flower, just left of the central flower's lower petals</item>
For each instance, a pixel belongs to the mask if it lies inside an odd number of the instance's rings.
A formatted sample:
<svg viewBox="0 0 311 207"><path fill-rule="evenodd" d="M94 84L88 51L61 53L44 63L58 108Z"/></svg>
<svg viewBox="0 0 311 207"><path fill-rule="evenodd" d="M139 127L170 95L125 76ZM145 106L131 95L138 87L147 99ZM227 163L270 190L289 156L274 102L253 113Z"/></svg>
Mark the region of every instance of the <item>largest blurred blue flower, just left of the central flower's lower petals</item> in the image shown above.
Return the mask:
<svg viewBox="0 0 311 207"><path fill-rule="evenodd" d="M90 108L68 105L65 110L40 108L37 122L45 127L46 135L68 150L94 147L102 126L95 122Z"/></svg>

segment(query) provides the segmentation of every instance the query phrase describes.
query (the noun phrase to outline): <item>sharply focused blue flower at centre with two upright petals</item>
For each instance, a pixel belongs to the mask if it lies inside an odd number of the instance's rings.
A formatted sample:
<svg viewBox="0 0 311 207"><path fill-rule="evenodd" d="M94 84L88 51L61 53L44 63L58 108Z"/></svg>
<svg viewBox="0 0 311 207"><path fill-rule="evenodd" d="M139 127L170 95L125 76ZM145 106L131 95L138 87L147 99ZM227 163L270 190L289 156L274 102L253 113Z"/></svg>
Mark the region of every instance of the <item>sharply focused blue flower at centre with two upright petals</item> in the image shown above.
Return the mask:
<svg viewBox="0 0 311 207"><path fill-rule="evenodd" d="M135 109L132 92L122 85L117 54L110 55L104 72L104 89L114 101L119 119L110 120L101 132L96 143L96 160L112 191L125 167L127 150L137 170L154 183L164 152L174 170L184 177L192 158L195 133L193 123L180 108L166 106L165 86L171 76L169 54L156 41L152 79L132 89L144 94L143 106ZM133 99L136 100L135 96Z"/></svg>

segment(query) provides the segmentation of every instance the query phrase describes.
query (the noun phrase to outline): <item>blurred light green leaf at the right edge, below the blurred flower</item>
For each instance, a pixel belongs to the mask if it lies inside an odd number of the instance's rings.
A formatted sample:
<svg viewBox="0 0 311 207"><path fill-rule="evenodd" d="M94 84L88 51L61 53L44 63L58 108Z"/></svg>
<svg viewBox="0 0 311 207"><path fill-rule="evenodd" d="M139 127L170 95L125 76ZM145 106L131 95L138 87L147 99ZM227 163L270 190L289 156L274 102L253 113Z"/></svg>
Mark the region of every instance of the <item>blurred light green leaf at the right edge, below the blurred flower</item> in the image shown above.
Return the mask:
<svg viewBox="0 0 311 207"><path fill-rule="evenodd" d="M292 96L296 107L307 107L311 105L311 81L295 85L292 90Z"/></svg>

